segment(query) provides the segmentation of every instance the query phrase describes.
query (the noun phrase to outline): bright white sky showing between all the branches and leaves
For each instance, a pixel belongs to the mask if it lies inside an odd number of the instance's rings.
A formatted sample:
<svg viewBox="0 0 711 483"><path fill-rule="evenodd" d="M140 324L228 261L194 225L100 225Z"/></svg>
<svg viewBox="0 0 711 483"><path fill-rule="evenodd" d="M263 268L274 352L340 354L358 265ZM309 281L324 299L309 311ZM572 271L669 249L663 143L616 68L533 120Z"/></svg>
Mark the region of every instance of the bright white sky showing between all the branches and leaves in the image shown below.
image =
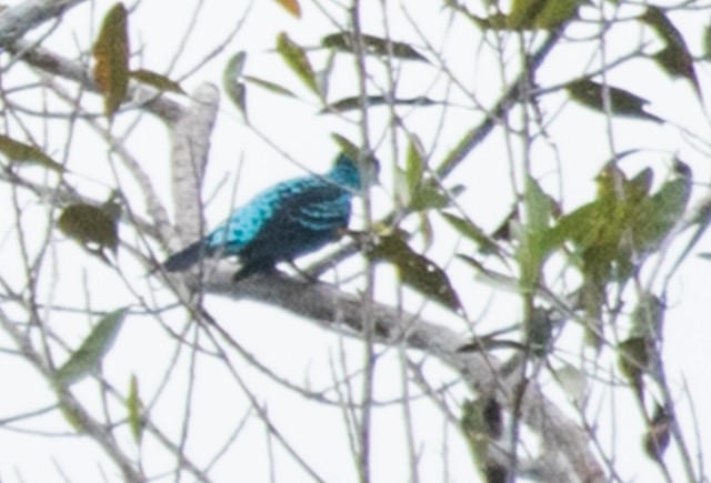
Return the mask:
<svg viewBox="0 0 711 483"><path fill-rule="evenodd" d="M363 31L382 36L381 2L369 0L361 3L362 11L368 12L362 17ZM462 87L468 92L473 92L475 101L481 105L490 107L502 92L502 71L508 81L518 72L514 39L511 38L501 46L501 56L507 59L502 67L497 61L492 46L471 24L460 17L452 19L451 12L439 2L424 3L427 2L418 2L413 7L413 2L388 2L390 36L420 48L423 48L423 38L437 42L432 49L442 52L447 68L464 82ZM471 9L480 8L474 2L470 3ZM67 57L86 54L112 2L98 0L72 9L44 44ZM316 3L306 1L301 19L293 18L276 2L267 1L251 4L234 2L230 6L214 0L170 3L141 1L131 12L131 49L137 52L131 60L132 67L166 72L171 79L180 80L182 88L191 92L206 82L219 85L227 60L238 51L246 51L247 74L277 82L298 95L278 95L248 85L248 110L252 128L244 125L238 109L222 95L203 189L208 227L214 227L232 205L246 202L261 189L292 175L302 175L304 168L313 172L327 170L337 153L337 145L331 141L330 133L338 132L351 140L360 139L360 128L353 122L357 120L356 114L342 118L319 114L321 105L273 51L278 33L286 31L300 46L312 47L313 50L309 51L311 61L314 66L322 66L326 53L316 48L322 37L338 31L338 28L323 14L321 8L337 16L336 21L342 21L342 12L339 13L336 3L317 8ZM608 8L612 7L605 3L605 9ZM704 11L705 18L707 13ZM587 14L592 16L583 9L583 17ZM699 26L703 21L700 17L694 11L673 17L688 44L699 51L702 44L702 29ZM241 28L226 48L183 79L186 72L191 72L240 22ZM32 32L32 38L39 38L49 29L49 26L38 29ZM184 39L188 30L191 30L191 34ZM570 36L587 39L595 31L594 26L583 24L578 30L571 29ZM637 44L630 43L631 36L633 39L643 38L640 42L654 43L653 37L644 37L631 28L613 29L607 42L608 56L614 58L630 44ZM561 83L580 76L590 64L597 62L599 66L598 53L593 48L594 46L584 41L563 42L549 59L548 68L542 70L539 78L541 85ZM618 49L620 52L615 51ZM427 52L424 49L421 51ZM352 57L337 56L336 76L330 83L329 99L354 94L356 77L349 64L352 64ZM432 99L448 95L450 105L447 108L434 105L404 108L400 111L407 112L403 115L407 124L411 132L420 137L427 153L439 161L453 148L462 132L481 122L482 112L471 109L472 99L461 90L451 88L435 63L410 62L404 63L402 69L398 72L401 76L399 97L408 98L422 92L427 92ZM709 81L708 68L700 62L697 72L703 89ZM373 76L382 78L383 71L373 69ZM28 79L36 77L28 72L27 77L3 80L4 88L27 83ZM704 142L709 122L688 82L670 80L651 67L649 61L628 62L613 70L608 82L652 99L650 111L672 121L654 124L639 120L613 120L614 148L618 152L643 149L641 155L633 155L624 161L622 165L625 171L634 174L651 165L657 175L655 185L659 185L670 168L669 160L672 155L678 155L692 167L697 182L708 183L711 173L708 157L704 155L709 152L709 147ZM445 91L448 85L452 89L449 93ZM93 105L96 112L99 112L101 100L93 94L86 95L86 105ZM27 107L41 109L41 104L38 105L40 100L32 90L28 90L26 98L23 102ZM12 99L17 101L20 98ZM50 104L52 102L54 101L50 101ZM570 211L594 197L594 177L611 157L605 135L608 121L599 113L571 105L561 92L544 97L541 104L548 112L558 109L561 111L548 132L554 147L547 142L534 147L533 174L544 189L562 199L563 208ZM67 105L62 109L66 112ZM385 109L374 108L371 115L371 139L375 140L381 159L385 160L381 185L372 190L377 214L385 214L392 209L392 160L402 162L405 147L401 139L399 151L393 153L389 141L379 138L385 128ZM37 122L42 121L38 118ZM103 120L99 122L106 125ZM514 124L518 122L518 119L513 121ZM131 128L134 123L137 127ZM700 137L700 140L693 140L684 130ZM128 112L117 119L112 132L119 138L122 133L128 133L126 145L149 173L158 194L170 205L170 185L167 181L169 144L162 123L139 111ZM62 130L60 121L54 122L47 131L48 152L61 158L69 135L72 139L68 151L68 168L72 171L68 175L70 183L80 189L82 194L97 200L106 199L110 187L117 184L109 169L110 157L106 143L82 123L78 123L77 130L68 134ZM518 148L515 143L514 147ZM514 157L520 157L520 152L514 153ZM467 191L458 198L458 203L467 207L468 214L480 227L492 231L509 213L513 202L510 195L510 163L504 161L508 154L501 131L490 135L469 158L448 180L448 184L451 187L462 183L467 187ZM559 163L562 165L562 178L558 173ZM38 172L38 179L41 180L43 175ZM703 192L704 184L700 187L699 192ZM126 177L121 178L121 189L124 193L136 193L136 205L132 208L143 214L140 211L142 202L139 188ZM559 192L560 189L562 192ZM7 187L3 185L2 190L9 193ZM37 203L31 197L20 200L20 204L23 207L21 221L24 233L30 239L36 237L36 231L41 233L37 235L38 243L41 243L43 237L48 237L42 231L47 222L47 205ZM358 207L353 225L362 227L362 210L360 203L356 204ZM17 255L17 231L12 228L14 217L9 210L3 213L4 217L7 221L2 225L7 228L1 233L2 270L7 280L13 280L12 274L23 273L23 265ZM445 264L454 248L461 246L461 240L451 231L444 232L444 225L437 223L434 228L437 243L428 255ZM122 239L136 238L130 228L122 227L121 230ZM156 308L164 309L174 303L170 291L157 279L146 276L144 266L137 263L129 253L119 251L118 260L126 276L121 280L112 269L88 258L73 241L58 232L50 233L49 237L51 250L57 256L52 258L52 269L42 272L42 279L38 283L38 299L44 303L67 309L89 306L99 311L132 304L137 295L146 298ZM420 241L415 241L414 246L422 249ZM708 241L700 243L701 251L708 251ZM162 253L158 245L153 250ZM307 265L309 261L320 256L322 254L307 258L299 264ZM669 256L664 263L673 260L673 256ZM359 266L358 263L350 263L342 269L343 272L339 271L339 275L353 273ZM680 424L693 445L692 453L698 452L702 460L709 455L707 442L711 436L707 430L711 427L711 420L705 411L711 406L711 391L708 390L705 378L708 348L711 343L711 331L708 329L708 262L689 260L671 284L671 309L667 315L664 345L668 376L677 399ZM379 274L382 276L378 280L375 299L392 303L398 294L392 271L385 268ZM465 293L461 295L470 319L477 322L477 333L487 333L518 321L520 302L515 294L481 283L473 284L470 271L452 270L451 278L460 291L465 288ZM21 284L22 280L22 276L17 278L17 283ZM136 293L131 293L129 286ZM16 289L21 290L21 285ZM361 282L352 283L348 290L358 289L362 289ZM419 304L418 296L405 293L404 306L414 311L419 309ZM362 365L360 342L332 330L324 330L310 321L298 320L278 309L214 296L207 298L206 308L246 351L253 354L273 374L311 391L330 390L334 380L342 379L343 374L358 374ZM7 310L11 315L14 313ZM39 313L47 318L52 330L61 334L62 340L72 348L78 346L86 336L89 322L96 321L72 310L50 311L40 308ZM469 330L459 318L439 306L424 304L422 313L428 319L463 333ZM12 316L22 316L21 311ZM182 334L186 343L180 343L176 334ZM116 345L103 362L103 375L116 384L119 392L126 393L131 375L136 374L141 398L150 406L152 421L176 441L181 439L183 427L180 422L186 419L189 399L191 424L184 441L193 462L207 464L238 433L210 472L212 481L312 481L267 435L263 423L256 417L254 410L243 391L234 383L224 362L203 353L197 355L190 344L204 344L208 349L211 346L204 335L197 333L194 325L190 325L182 308L169 306L159 312L158 316L132 314L127 319ZM614 354L611 353L604 353L599 360L588 359L580 363L580 331L577 328L567 330L560 345L569 349L561 351L559 355L569 361L578 360L581 368L592 372L592 384L598 378L607 381L608 371L613 370L617 364ZM10 348L11 343L0 336L0 346ZM421 389L403 381L404 354L393 348L379 346L377 351L381 355L375 376L375 399L382 405L379 405L373 416L373 481L410 481L404 444L405 421L400 404L405 385L407 391L413 391L411 395L414 395L410 410L419 455L420 481L472 481L472 475L475 474L472 461L455 425L448 422L445 415L428 398L421 395ZM66 352L58 350L56 354L57 363ZM457 403L471 398L468 388L458 383L457 374L442 368L427 354L408 355L422 363L421 369L432 386L448 384L442 399L457 414ZM0 386L4 388L0 420L53 403L53 395L46 381L38 378L33 369L13 354L0 354ZM337 404L314 403L303 394L286 389L236 354L231 354L230 359L246 386L284 437L326 481L357 481L342 409ZM548 381L543 380L542 384L554 401L567 405L568 398L558 384L550 381L550 378ZM339 388L342 390L342 385ZM640 437L644 424L629 389L607 384L594 388L588 415L598 423L598 441L608 453L614 455L621 479L663 481L654 463L642 453ZM116 401L101 400L96 380L87 379L77 384L73 391L89 405L93 401L98 412L108 411L116 420L120 420L122 409ZM330 390L326 394L329 400L337 400L334 391ZM567 409L575 417L575 411L571 406ZM692 430L694 425L701 442L695 441ZM171 473L176 466L172 456L149 437L139 447L128 430L124 432L121 443L141 455L148 474L160 476L166 472L164 479L157 480L178 481ZM533 452L535 444L535 440L531 437L530 449ZM677 473L680 470L673 449L670 449L669 454L672 475L682 474ZM271 459L274 474L269 471ZM3 483L94 482L102 479L119 481L120 476L89 439L73 434L57 411L0 427L0 480ZM192 479L187 476L183 481Z"/></svg>

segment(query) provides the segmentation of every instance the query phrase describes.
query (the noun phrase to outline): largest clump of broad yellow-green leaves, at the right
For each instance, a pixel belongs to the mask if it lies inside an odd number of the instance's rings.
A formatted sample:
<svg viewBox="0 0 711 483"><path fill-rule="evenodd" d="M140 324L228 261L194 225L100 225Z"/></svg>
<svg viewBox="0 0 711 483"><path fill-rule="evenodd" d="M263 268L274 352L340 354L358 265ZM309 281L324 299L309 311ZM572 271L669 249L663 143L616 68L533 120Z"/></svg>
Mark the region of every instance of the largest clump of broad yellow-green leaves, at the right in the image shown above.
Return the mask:
<svg viewBox="0 0 711 483"><path fill-rule="evenodd" d="M560 217L544 234L542 244L547 253L567 242L574 245L572 256L583 275L580 295L588 324L587 340L595 346L602 342L601 306L605 303L608 283L628 280L639 255L658 246L687 207L691 174L680 161L675 165L674 178L650 195L653 178L650 169L628 180L614 163L608 164L598 177L598 198ZM629 243L630 234L633 246Z"/></svg>

